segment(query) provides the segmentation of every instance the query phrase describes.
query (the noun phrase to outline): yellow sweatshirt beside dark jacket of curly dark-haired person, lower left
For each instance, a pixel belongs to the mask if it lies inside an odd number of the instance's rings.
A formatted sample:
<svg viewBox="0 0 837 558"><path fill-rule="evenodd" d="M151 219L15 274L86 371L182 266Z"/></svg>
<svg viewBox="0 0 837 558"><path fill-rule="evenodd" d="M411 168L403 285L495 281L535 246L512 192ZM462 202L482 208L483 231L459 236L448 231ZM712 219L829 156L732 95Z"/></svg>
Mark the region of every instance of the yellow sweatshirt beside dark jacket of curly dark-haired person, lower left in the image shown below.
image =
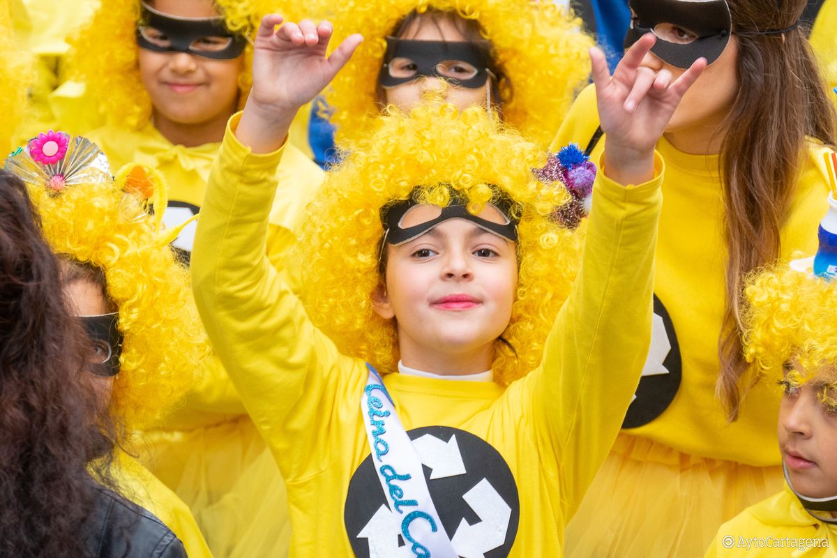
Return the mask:
<svg viewBox="0 0 837 558"><path fill-rule="evenodd" d="M112 474L120 494L157 515L182 541L189 558L212 557L187 505L136 459L117 450Z"/></svg>

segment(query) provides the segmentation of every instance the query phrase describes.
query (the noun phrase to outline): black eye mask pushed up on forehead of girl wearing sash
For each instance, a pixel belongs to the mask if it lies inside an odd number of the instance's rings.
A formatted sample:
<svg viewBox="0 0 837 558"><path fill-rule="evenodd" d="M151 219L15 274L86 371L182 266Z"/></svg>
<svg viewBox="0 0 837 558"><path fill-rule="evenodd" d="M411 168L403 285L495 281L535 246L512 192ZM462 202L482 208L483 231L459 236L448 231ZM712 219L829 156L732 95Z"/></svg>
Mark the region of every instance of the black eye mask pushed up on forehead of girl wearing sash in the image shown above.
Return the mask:
<svg viewBox="0 0 837 558"><path fill-rule="evenodd" d="M501 192L499 188L495 188L495 196L490 201L490 205L494 206L506 218L507 223L505 224L495 223L474 215L468 211L466 207L467 202L468 200L465 197L451 192L448 206L439 209L439 217L429 219L413 227L402 228L401 221L407 212L413 207L421 205L415 200L413 192L413 195L408 200L385 206L381 209L384 240L389 244L393 244L393 246L398 246L398 244L409 242L413 238L418 238L422 234L427 233L439 223L443 223L448 219L460 218L475 223L478 227L485 229L489 233L494 233L497 236L511 240L511 242L517 242L517 220L511 217L511 207L514 205L514 202L505 192Z"/></svg>

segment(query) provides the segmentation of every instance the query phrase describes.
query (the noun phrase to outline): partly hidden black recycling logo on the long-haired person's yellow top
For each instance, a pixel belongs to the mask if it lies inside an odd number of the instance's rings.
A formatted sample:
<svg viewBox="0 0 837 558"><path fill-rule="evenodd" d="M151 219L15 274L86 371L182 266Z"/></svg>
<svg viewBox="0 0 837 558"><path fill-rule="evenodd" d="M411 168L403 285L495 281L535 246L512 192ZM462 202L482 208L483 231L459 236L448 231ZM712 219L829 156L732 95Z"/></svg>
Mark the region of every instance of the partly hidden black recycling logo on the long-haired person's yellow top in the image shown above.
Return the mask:
<svg viewBox="0 0 837 558"><path fill-rule="evenodd" d="M651 328L651 346L642 369L639 387L634 401L628 407L623 428L636 428L659 417L674 401L683 364L680 361L680 345L677 343L675 325L662 301L654 295L654 325Z"/></svg>

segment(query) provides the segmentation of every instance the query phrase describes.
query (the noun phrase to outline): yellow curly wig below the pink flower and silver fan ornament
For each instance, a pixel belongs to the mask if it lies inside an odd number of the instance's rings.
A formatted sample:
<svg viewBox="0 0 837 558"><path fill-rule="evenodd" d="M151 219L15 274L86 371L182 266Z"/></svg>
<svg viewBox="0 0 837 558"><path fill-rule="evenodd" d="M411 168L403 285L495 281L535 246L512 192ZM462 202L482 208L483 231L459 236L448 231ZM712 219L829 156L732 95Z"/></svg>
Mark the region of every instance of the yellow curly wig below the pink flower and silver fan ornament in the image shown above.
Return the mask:
<svg viewBox="0 0 837 558"><path fill-rule="evenodd" d="M141 190L131 183L135 174L123 171L116 182L69 186L58 195L29 184L54 252L105 273L125 338L109 412L129 429L151 426L169 411L207 352L188 270L159 231L161 206L151 216L144 196L123 189Z"/></svg>

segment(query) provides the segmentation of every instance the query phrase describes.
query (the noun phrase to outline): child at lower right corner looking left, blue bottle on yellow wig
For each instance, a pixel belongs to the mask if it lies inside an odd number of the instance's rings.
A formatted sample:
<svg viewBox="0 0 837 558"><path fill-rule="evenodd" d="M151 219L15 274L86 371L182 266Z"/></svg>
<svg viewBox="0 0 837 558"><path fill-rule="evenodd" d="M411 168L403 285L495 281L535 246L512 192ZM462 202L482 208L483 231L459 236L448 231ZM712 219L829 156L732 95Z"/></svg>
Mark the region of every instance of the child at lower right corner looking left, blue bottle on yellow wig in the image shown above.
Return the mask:
<svg viewBox="0 0 837 558"><path fill-rule="evenodd" d="M837 284L788 268L747 287L747 359L783 387L779 494L721 525L706 557L816 558L837 549Z"/></svg>

